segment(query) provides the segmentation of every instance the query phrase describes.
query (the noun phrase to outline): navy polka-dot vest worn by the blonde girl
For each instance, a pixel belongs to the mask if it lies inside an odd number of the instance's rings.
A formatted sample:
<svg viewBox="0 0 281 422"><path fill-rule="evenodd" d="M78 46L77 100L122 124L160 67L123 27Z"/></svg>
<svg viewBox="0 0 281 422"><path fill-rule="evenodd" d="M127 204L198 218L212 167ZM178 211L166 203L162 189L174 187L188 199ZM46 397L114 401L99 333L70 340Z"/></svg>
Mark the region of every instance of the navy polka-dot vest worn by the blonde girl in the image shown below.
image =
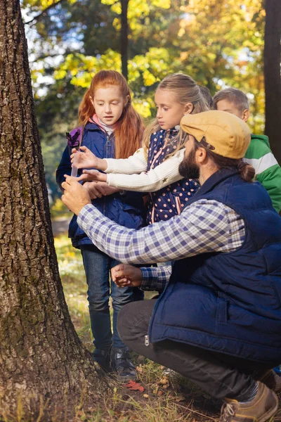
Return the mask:
<svg viewBox="0 0 281 422"><path fill-rule="evenodd" d="M167 155L176 149L178 130L160 129L150 136L148 148L148 171L161 164ZM150 193L148 199L148 215L146 222L166 221L180 215L188 200L195 194L200 184L197 180L181 179L173 184Z"/></svg>

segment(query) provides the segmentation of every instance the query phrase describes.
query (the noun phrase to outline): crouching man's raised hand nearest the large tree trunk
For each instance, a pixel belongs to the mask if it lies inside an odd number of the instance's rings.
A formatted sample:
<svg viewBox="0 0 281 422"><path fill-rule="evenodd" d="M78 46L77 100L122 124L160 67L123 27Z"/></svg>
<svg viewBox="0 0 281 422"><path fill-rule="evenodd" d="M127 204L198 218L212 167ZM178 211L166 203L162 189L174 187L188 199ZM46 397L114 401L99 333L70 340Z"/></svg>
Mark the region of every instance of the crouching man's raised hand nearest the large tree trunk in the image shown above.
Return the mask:
<svg viewBox="0 0 281 422"><path fill-rule="evenodd" d="M62 183L62 188L64 189L62 196L63 203L74 214L78 215L85 205L91 204L88 191L78 183L77 177L71 177L65 174L65 181Z"/></svg>

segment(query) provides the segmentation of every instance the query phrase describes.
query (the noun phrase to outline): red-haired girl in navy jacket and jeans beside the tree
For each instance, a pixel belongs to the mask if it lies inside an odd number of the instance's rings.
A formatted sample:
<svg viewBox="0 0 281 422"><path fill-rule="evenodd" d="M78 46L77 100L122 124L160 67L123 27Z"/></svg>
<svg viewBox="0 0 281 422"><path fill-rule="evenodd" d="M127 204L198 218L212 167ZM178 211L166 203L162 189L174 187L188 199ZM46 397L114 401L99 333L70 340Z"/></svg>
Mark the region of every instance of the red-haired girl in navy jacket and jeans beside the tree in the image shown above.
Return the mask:
<svg viewBox="0 0 281 422"><path fill-rule="evenodd" d="M91 86L79 106L79 125L70 133L70 142L80 131L80 144L98 158L128 158L139 148L143 122L131 105L131 91L126 79L115 70L101 70L93 77ZM64 174L71 173L70 148L65 148L58 166L57 181L61 186ZM81 170L79 170L81 174ZM120 192L107 184L87 183L93 204L118 224L131 229L143 225L143 198L140 193ZM105 195L106 196L103 196ZM143 299L137 288L117 288L109 283L110 269L117 264L100 252L88 236L79 229L77 217L70 222L69 237L74 248L81 250L88 284L89 312L93 333L93 359L107 371L117 373L119 381L136 377L129 360L129 350L117 333L117 315L126 303ZM109 298L112 297L113 333L110 324Z"/></svg>

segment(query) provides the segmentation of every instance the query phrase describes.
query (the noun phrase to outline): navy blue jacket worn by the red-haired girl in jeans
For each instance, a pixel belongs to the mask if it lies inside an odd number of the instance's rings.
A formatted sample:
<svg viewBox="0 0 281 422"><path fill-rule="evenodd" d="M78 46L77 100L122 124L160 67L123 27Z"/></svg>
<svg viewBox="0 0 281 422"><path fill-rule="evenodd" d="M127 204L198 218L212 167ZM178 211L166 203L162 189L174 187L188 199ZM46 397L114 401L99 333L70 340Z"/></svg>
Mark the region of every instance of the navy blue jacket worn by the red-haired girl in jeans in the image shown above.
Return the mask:
<svg viewBox="0 0 281 422"><path fill-rule="evenodd" d="M81 145L89 148L98 158L115 158L114 135L108 136L96 123L89 122L86 124ZM78 174L81 174L81 172L82 170L79 170ZM60 187L65 180L64 174L71 174L68 146L63 152L63 157L56 172L57 183ZM143 226L144 206L141 193L129 191L124 193L124 195L114 193L110 196L94 199L92 203L103 215L122 226L129 229L140 229ZM72 217L70 222L68 236L72 238L72 245L75 248L79 248L81 245L92 244L89 237L79 228L76 215Z"/></svg>

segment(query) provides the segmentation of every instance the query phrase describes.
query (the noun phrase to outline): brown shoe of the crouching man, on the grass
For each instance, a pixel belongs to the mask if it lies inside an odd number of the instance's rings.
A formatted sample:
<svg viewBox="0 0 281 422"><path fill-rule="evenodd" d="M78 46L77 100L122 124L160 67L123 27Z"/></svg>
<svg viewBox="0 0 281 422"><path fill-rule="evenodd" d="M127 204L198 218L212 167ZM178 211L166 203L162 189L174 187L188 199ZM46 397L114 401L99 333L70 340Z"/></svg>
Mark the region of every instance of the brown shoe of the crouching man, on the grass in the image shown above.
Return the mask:
<svg viewBox="0 0 281 422"><path fill-rule="evenodd" d="M220 422L265 422L278 409L275 392L258 381L256 397L251 402L240 404L237 400L226 398L221 407Z"/></svg>

